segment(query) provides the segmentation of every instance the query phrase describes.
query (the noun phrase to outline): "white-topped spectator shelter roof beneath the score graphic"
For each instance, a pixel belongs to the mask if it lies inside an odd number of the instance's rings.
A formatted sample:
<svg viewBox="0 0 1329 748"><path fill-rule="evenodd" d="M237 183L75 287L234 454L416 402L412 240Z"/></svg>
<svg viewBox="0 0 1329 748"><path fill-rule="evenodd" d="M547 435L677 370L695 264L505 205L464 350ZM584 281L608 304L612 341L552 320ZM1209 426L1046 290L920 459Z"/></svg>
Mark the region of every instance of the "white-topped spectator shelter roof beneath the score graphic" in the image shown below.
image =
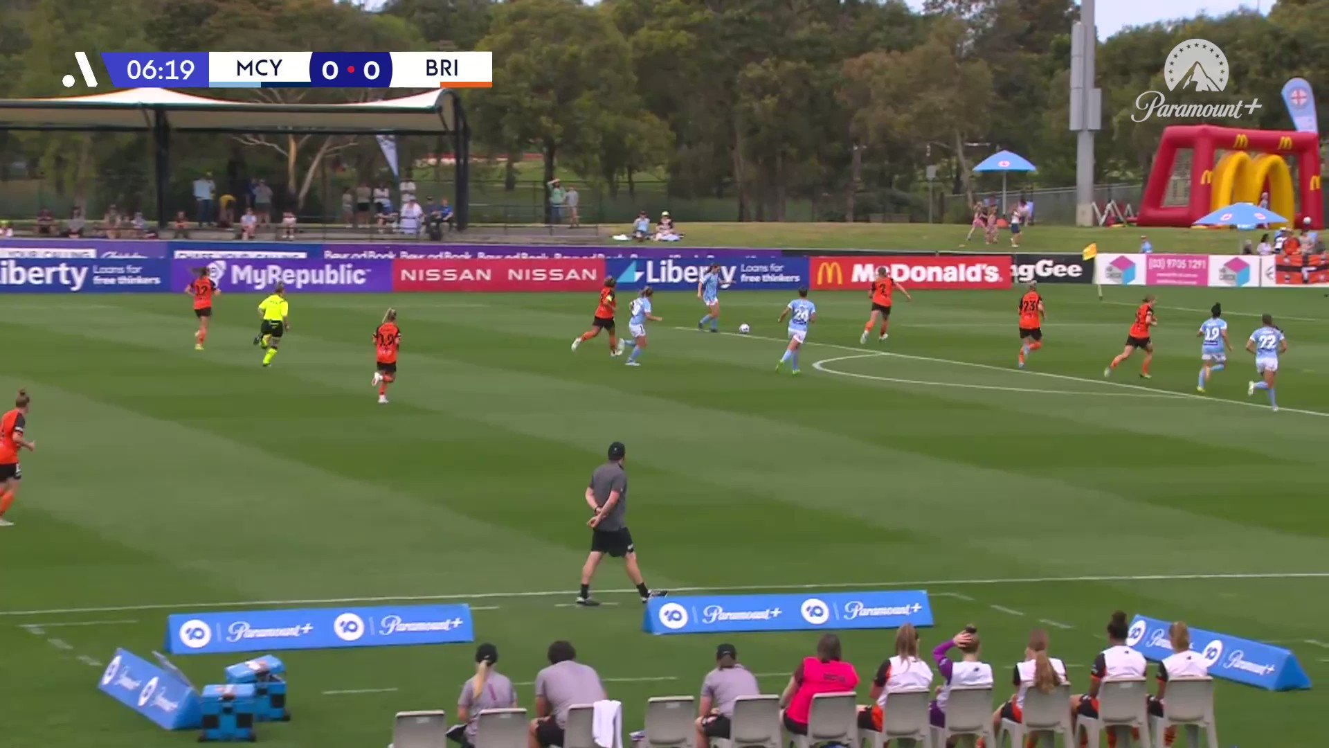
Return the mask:
<svg viewBox="0 0 1329 748"><path fill-rule="evenodd" d="M165 88L92 96L0 100L0 129L327 134L452 134L465 129L448 89L351 104L226 101ZM459 128L460 125L460 128Z"/></svg>

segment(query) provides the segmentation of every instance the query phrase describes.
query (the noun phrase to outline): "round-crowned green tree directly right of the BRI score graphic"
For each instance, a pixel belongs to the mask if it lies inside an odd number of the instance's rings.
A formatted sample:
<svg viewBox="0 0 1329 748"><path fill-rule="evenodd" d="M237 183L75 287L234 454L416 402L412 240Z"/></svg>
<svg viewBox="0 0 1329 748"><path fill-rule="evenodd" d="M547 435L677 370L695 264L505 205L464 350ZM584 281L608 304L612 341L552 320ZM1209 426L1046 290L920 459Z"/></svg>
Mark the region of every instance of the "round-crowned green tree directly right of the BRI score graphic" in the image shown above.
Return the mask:
<svg viewBox="0 0 1329 748"><path fill-rule="evenodd" d="M494 87L473 100L476 129L537 144L545 182L560 153L585 160L633 110L627 40L605 13L571 0L512 0L490 29L477 47L493 52Z"/></svg>

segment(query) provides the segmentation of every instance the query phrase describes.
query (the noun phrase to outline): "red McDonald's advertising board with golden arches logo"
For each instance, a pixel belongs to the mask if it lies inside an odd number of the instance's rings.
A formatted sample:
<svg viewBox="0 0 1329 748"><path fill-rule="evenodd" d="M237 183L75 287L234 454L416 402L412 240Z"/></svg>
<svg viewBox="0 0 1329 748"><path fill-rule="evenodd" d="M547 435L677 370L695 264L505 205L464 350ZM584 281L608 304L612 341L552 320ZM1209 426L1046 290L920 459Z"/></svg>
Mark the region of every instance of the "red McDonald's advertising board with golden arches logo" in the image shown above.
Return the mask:
<svg viewBox="0 0 1329 748"><path fill-rule="evenodd" d="M867 290L885 268L906 289L1001 290L1014 278L1009 254L948 257L813 257L808 274L815 290Z"/></svg>

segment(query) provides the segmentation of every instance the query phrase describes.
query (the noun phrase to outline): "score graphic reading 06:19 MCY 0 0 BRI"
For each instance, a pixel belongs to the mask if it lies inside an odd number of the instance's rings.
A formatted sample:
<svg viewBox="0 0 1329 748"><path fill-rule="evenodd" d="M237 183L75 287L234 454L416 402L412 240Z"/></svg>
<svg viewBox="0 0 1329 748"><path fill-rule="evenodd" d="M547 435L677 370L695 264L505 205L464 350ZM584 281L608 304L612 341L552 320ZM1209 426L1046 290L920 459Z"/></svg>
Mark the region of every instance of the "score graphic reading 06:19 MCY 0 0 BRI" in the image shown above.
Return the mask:
<svg viewBox="0 0 1329 748"><path fill-rule="evenodd" d="M492 88L492 52L102 52L116 88Z"/></svg>

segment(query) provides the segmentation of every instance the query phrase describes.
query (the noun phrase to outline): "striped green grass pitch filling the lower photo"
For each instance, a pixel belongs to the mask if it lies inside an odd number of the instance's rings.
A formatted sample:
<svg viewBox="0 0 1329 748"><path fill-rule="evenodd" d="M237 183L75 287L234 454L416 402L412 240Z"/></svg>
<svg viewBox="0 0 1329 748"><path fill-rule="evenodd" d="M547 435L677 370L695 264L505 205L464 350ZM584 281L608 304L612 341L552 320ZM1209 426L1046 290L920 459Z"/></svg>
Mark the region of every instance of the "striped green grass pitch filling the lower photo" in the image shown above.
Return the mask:
<svg viewBox="0 0 1329 748"><path fill-rule="evenodd" d="M1329 677L1329 299L1164 289L1154 379L1132 361L1104 382L1140 291L1045 286L1029 371L1018 293L916 293L864 347L864 294L813 294L799 379L772 373L785 293L724 295L720 335L695 330L692 294L658 294L641 369L603 338L569 351L582 294L292 294L271 369L250 342L258 297L221 297L202 353L183 297L0 298L0 393L33 395L40 450L0 531L0 745L193 743L98 693L97 663L159 648L169 612L351 599L470 602L526 707L567 638L637 728L647 696L698 691L718 638L642 634L615 563L597 588L617 604L569 606L582 490L614 439L653 586L926 588L924 644L975 623L998 697L1034 627L1084 687L1114 608L1278 642ZM1195 394L1216 299L1237 347L1261 311L1286 330L1282 411L1245 397L1241 351ZM389 303L405 338L379 406L369 335ZM867 676L892 638L848 634L847 657ZM815 635L731 639L776 692ZM456 708L472 654L282 655L294 721L260 741L384 745L393 712ZM203 684L237 659L177 661ZM1223 745L1318 743L1317 691L1217 699Z"/></svg>

